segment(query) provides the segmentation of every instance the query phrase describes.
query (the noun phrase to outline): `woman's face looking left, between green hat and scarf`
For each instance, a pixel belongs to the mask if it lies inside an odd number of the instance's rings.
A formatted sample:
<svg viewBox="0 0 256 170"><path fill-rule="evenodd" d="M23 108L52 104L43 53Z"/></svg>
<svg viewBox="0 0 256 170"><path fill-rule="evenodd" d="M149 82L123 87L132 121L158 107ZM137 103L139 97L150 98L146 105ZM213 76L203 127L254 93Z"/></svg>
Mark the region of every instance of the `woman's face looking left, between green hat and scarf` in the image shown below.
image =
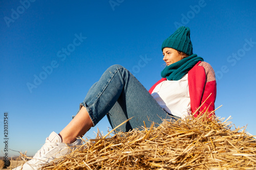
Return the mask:
<svg viewBox="0 0 256 170"><path fill-rule="evenodd" d="M166 65L176 63L183 59L183 56L178 53L174 48L163 48L163 61Z"/></svg>

